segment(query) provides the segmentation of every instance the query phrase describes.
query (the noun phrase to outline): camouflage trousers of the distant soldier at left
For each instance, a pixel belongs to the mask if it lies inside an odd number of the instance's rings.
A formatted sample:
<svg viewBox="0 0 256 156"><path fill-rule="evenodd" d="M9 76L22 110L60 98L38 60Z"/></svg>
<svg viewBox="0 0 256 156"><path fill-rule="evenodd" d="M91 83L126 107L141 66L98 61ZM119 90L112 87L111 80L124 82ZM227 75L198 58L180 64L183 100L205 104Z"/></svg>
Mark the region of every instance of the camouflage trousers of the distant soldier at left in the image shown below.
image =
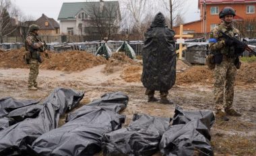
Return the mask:
<svg viewBox="0 0 256 156"><path fill-rule="evenodd" d="M28 88L37 86L36 78L39 73L39 62L35 59L30 59L30 74L28 76Z"/></svg>

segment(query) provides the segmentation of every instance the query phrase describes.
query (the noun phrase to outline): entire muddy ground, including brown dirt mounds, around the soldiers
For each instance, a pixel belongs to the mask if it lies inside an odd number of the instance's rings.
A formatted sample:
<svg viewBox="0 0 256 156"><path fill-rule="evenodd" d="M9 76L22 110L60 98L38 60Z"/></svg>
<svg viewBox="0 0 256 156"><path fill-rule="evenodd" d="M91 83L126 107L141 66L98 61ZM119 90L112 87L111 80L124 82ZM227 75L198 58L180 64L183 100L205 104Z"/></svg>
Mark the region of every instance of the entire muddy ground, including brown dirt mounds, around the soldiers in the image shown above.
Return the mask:
<svg viewBox="0 0 256 156"><path fill-rule="evenodd" d="M127 116L124 126L129 125L136 112L172 117L177 104L185 110L214 110L214 79L212 71L205 66L187 66L181 61L177 62L177 82L168 95L174 104L166 105L147 102L145 88L140 82L140 60L133 61L117 55L106 61L86 52L51 54L51 59L40 65L38 84L42 88L29 91L29 70L21 54L22 50L0 52L0 98L41 99L60 86L84 90L84 99L79 104L82 106L106 92L123 91L129 96L127 108L121 112ZM216 121L211 129L215 155L256 155L255 67L255 62L244 63L236 78L234 107L243 116L230 117L228 122ZM159 92L156 92L156 96L159 98ZM64 119L65 116L62 116L59 125L64 124ZM156 155L161 154L158 152Z"/></svg>

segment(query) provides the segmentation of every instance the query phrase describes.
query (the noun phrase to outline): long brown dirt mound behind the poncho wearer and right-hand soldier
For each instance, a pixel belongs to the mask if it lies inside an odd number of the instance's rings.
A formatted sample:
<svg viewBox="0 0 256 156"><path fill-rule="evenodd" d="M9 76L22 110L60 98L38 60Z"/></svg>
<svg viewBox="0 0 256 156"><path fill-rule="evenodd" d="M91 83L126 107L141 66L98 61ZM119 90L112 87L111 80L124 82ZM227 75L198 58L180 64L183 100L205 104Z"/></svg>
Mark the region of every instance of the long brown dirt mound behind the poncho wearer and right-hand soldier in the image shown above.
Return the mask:
<svg viewBox="0 0 256 156"><path fill-rule="evenodd" d="M186 70L182 72L183 64L177 63L177 85L201 84L211 86L214 84L214 70L209 70L206 66L185 66ZM241 69L236 75L236 85L251 86L256 84L256 62L243 63ZM142 66L126 66L121 78L125 82L140 82Z"/></svg>

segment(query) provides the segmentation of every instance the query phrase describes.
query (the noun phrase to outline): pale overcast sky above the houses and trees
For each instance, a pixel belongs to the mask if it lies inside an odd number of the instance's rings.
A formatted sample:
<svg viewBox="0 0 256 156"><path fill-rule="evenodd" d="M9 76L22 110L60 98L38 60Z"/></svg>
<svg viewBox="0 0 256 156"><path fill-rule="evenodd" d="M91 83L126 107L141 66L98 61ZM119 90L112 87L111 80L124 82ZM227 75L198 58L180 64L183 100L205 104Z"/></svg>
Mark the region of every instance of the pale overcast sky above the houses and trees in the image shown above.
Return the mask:
<svg viewBox="0 0 256 156"><path fill-rule="evenodd" d="M59 11L61 11L62 3L65 2L81 2L86 0L11 0L11 3L16 5L23 15L33 16L38 19L42 13L47 17L51 17L57 21ZM99 1L99 0L87 0ZM108 0L104 0L108 1ZM113 0L112 0L113 1ZM149 0L148 0L149 1ZM160 1L160 0L154 0ZM187 0L188 6L186 13L183 15L185 22L195 21L199 19L199 11L197 9L198 0ZM162 10L159 10L162 11ZM158 9L156 10L158 12Z"/></svg>

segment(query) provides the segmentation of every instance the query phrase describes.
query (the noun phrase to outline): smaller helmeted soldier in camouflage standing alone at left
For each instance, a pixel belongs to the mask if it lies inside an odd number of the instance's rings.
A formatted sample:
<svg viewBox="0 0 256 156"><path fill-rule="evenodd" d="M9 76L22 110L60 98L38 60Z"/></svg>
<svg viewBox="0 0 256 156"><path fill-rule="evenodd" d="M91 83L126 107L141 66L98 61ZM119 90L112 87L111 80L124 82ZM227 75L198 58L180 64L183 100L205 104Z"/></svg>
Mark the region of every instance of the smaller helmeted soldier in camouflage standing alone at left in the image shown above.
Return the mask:
<svg viewBox="0 0 256 156"><path fill-rule="evenodd" d="M28 76L28 90L38 90L36 78L39 73L39 63L42 61L40 58L40 48L44 46L44 43L38 40L38 30L38 25L30 25L30 33L26 37L26 50L30 52L30 60L28 60L30 66L30 73Z"/></svg>

